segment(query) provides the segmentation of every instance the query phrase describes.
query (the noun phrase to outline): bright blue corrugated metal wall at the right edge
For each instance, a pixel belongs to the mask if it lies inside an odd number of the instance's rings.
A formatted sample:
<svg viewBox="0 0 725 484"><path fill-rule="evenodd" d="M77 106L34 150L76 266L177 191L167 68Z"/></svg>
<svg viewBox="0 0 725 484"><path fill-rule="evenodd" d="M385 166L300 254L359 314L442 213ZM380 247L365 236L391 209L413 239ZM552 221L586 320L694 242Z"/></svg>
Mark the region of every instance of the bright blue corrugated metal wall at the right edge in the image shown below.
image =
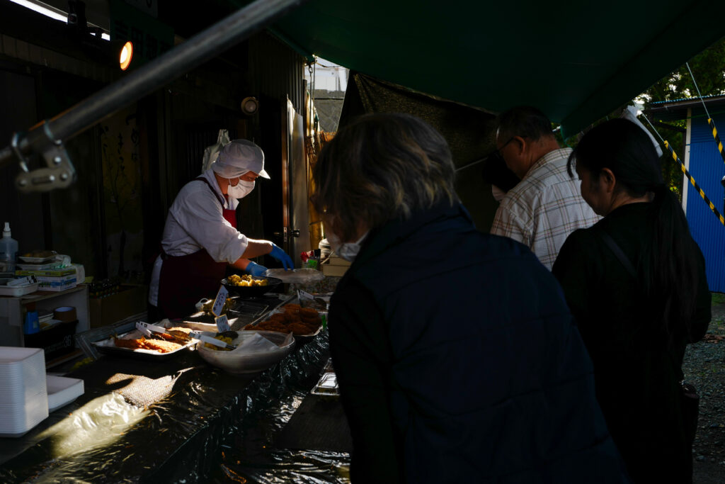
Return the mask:
<svg viewBox="0 0 725 484"><path fill-rule="evenodd" d="M689 172L718 211L723 213L724 192L720 180L725 175L725 163L702 111L692 110ZM725 115L713 115L713 120L722 139ZM687 191L687 221L692 237L705 255L710 290L725 292L725 226L718 221L692 185Z"/></svg>

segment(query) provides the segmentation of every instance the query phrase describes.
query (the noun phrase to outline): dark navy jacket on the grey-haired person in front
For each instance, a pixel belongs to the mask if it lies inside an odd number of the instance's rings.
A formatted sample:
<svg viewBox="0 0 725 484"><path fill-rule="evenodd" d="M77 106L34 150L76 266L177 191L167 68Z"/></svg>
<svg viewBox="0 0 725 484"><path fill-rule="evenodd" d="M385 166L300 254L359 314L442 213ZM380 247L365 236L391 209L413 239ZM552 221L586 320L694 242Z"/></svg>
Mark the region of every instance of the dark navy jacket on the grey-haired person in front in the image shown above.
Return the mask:
<svg viewBox="0 0 725 484"><path fill-rule="evenodd" d="M463 206L371 231L329 320L354 483L627 482L558 283Z"/></svg>

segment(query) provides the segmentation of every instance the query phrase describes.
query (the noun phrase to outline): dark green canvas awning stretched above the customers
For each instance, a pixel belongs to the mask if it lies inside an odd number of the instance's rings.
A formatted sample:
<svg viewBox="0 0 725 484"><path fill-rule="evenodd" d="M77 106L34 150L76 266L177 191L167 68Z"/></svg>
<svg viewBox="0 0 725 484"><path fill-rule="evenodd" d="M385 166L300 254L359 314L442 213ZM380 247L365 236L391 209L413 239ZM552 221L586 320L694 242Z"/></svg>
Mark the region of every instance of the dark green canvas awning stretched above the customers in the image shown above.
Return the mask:
<svg viewBox="0 0 725 484"><path fill-rule="evenodd" d="M426 94L537 106L571 135L725 36L724 14L722 0L310 0L273 30Z"/></svg>

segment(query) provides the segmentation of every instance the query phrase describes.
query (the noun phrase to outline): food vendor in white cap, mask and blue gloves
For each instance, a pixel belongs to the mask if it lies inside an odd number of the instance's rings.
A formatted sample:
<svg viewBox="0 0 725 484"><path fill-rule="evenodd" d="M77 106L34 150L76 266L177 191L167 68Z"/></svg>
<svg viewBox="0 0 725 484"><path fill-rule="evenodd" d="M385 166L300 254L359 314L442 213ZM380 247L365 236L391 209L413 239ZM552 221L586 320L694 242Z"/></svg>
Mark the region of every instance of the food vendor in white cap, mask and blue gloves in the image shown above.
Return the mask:
<svg viewBox="0 0 725 484"><path fill-rule="evenodd" d="M166 218L162 253L149 287L157 319L193 313L196 302L217 293L228 266L264 274L267 268L249 258L269 254L284 268L294 267L273 242L249 239L236 229L239 199L252 192L257 177L270 178L264 163L260 147L235 139L220 150L210 169L181 188Z"/></svg>

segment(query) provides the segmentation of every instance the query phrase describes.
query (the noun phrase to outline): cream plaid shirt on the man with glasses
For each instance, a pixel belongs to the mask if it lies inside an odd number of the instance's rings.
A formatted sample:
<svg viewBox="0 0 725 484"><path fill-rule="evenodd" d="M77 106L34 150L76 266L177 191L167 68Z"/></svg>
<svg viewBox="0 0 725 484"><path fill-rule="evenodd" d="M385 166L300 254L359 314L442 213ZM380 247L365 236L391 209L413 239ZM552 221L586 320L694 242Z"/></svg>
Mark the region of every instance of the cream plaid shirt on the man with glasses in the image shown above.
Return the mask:
<svg viewBox="0 0 725 484"><path fill-rule="evenodd" d="M566 172L571 149L555 149L534 163L501 200L491 233L528 245L551 270L566 237L600 216L579 193L579 180Z"/></svg>

